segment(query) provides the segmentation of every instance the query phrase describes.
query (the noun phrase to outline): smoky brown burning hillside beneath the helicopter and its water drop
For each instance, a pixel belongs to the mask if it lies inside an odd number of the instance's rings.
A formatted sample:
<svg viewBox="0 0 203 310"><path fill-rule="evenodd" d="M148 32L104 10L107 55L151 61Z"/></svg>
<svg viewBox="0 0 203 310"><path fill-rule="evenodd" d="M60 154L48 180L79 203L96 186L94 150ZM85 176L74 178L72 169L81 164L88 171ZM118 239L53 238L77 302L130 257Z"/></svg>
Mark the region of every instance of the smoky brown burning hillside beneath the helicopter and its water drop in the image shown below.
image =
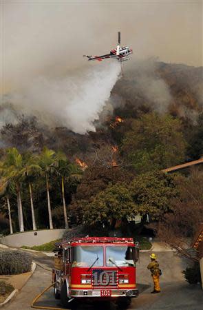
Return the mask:
<svg viewBox="0 0 203 310"><path fill-rule="evenodd" d="M35 116L23 116L23 111L15 111L10 103L1 107L3 115L10 114L10 119L14 119L13 123L2 127L3 146L39 152L47 145L55 150L62 149L71 158L82 156L87 159L89 153L101 145L119 144L130 128L131 120L153 110L182 119L186 127L197 125L198 115L202 112L202 68L143 61L124 70L124 75L111 90L100 120L95 122L96 132L81 135L66 127L46 127L39 124ZM123 122L112 127L116 116Z"/></svg>

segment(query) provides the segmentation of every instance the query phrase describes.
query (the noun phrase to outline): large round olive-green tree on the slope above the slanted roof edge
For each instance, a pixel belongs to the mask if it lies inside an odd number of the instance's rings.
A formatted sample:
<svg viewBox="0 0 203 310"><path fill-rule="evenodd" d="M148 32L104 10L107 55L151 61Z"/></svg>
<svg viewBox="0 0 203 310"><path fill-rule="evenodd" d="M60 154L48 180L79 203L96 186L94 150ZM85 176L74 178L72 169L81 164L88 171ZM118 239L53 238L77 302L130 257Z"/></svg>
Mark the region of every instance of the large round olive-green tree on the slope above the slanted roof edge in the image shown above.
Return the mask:
<svg viewBox="0 0 203 310"><path fill-rule="evenodd" d="M122 156L136 172L163 169L183 161L186 142L180 120L153 112L134 120L131 126L122 141Z"/></svg>

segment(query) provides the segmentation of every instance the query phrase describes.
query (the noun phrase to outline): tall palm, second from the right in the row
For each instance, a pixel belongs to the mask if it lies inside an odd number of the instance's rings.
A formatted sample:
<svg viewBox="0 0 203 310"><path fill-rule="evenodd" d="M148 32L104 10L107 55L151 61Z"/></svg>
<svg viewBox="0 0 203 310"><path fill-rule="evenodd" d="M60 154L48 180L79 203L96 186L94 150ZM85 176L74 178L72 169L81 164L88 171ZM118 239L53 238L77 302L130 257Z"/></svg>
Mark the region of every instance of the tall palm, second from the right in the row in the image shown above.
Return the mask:
<svg viewBox="0 0 203 310"><path fill-rule="evenodd" d="M53 229L52 223L52 209L50 203L50 183L49 183L49 175L54 170L54 163L56 162L55 152L52 149L48 149L47 147L43 148L39 156L39 166L42 169L42 172L45 176L46 180L46 188L47 188L47 207L50 221L50 229Z"/></svg>

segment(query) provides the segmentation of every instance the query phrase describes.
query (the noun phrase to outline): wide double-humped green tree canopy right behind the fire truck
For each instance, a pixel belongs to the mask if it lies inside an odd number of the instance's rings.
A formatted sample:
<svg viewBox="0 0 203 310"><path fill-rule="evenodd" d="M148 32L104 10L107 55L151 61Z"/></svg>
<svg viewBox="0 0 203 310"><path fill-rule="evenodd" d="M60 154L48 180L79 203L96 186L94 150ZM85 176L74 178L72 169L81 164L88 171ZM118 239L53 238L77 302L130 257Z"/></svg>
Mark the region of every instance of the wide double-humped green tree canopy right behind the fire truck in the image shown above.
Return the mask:
<svg viewBox="0 0 203 310"><path fill-rule="evenodd" d="M147 172L129 184L108 185L96 194L92 203L84 205L83 220L89 225L107 224L127 220L137 214L149 214L153 220L157 220L171 210L171 198L177 195L172 176L162 172Z"/></svg>

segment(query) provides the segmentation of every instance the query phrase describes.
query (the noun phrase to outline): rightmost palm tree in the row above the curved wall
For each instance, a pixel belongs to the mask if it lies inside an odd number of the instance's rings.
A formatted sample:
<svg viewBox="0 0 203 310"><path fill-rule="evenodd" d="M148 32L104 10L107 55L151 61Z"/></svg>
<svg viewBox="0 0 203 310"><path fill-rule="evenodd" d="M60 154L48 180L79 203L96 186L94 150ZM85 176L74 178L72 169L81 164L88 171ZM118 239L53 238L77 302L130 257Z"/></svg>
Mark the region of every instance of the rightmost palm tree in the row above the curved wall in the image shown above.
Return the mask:
<svg viewBox="0 0 203 310"><path fill-rule="evenodd" d="M68 228L67 210L65 204L64 180L65 178L67 178L67 180L70 180L71 178L80 178L83 172L76 165L70 163L70 161L67 160L65 154L63 154L62 152L58 152L56 154L56 158L58 159L58 161L56 161L56 167L57 167L56 171L61 176L61 194L63 200L63 214L65 220L65 228Z"/></svg>

